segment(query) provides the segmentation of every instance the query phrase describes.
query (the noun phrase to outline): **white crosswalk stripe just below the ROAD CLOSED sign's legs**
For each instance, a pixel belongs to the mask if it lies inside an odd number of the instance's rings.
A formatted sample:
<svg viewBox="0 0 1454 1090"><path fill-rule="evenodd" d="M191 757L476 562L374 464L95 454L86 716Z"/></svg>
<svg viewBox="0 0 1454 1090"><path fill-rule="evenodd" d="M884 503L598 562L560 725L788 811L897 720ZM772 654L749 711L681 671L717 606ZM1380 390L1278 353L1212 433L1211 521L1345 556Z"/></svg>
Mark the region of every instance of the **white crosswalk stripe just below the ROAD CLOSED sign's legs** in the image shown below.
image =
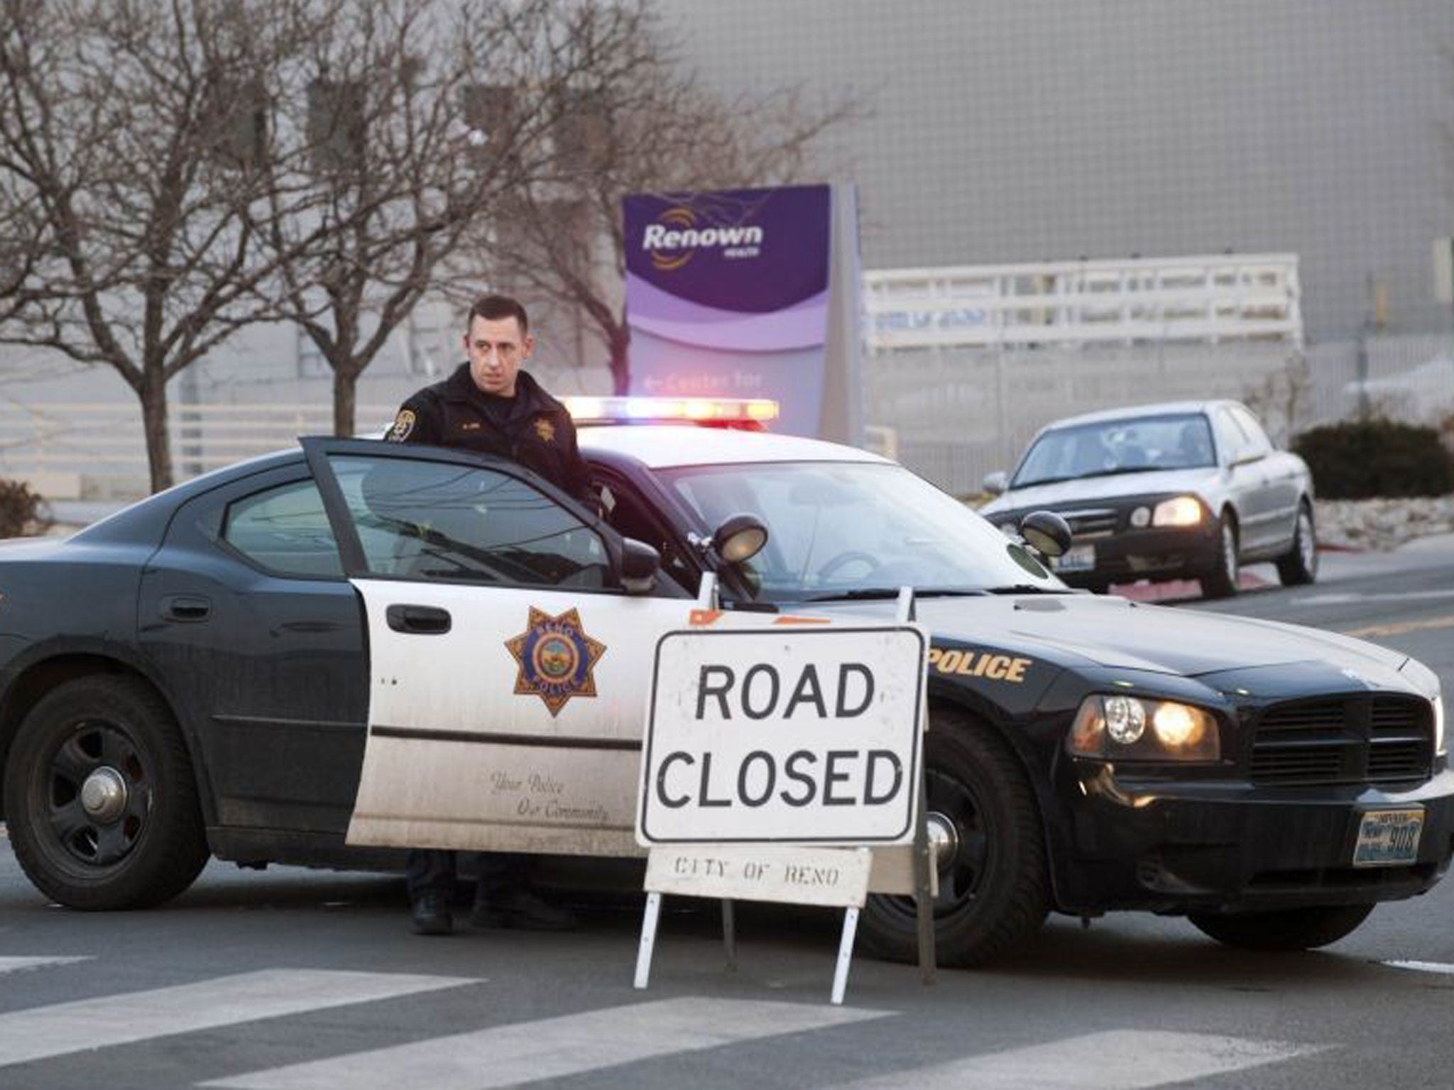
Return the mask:
<svg viewBox="0 0 1454 1090"><path fill-rule="evenodd" d="M829 1004L672 998L493 1026L411 1045L254 1071L212 1083L228 1090L490 1090L801 1033L888 1016Z"/></svg>

